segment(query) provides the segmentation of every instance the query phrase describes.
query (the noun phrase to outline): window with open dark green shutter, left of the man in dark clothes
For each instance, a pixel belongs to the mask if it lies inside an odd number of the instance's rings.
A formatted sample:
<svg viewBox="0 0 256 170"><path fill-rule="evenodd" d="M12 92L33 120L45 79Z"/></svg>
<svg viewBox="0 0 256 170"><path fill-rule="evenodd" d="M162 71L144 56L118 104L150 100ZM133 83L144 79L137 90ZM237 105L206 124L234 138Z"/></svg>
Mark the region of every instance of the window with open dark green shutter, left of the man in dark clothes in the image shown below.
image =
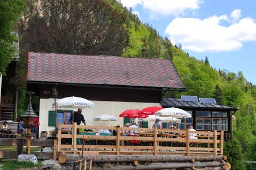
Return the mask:
<svg viewBox="0 0 256 170"><path fill-rule="evenodd" d="M72 111L57 111L57 120L59 124L63 124L64 121L67 121L68 124L69 118L71 117ZM56 112L55 111L49 111L48 114L48 126L55 126L56 127Z"/></svg>

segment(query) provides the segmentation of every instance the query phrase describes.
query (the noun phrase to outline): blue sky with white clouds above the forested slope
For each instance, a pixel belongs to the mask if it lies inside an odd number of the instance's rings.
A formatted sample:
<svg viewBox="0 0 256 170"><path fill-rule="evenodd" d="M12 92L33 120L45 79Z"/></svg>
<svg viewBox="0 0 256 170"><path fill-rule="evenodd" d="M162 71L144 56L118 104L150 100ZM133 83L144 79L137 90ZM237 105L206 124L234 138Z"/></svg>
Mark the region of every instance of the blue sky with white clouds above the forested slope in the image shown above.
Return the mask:
<svg viewBox="0 0 256 170"><path fill-rule="evenodd" d="M120 0L143 23L214 69L256 84L255 0Z"/></svg>

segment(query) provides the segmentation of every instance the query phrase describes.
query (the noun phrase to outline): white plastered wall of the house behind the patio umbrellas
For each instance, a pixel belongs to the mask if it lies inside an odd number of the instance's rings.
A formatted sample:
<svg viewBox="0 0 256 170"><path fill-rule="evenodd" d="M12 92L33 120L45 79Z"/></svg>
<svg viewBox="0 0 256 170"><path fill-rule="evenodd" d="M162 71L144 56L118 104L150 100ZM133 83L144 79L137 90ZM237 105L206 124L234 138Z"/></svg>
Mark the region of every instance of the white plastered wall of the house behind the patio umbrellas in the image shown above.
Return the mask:
<svg viewBox="0 0 256 170"><path fill-rule="evenodd" d="M95 104L94 108L82 109L82 114L85 117L87 125L106 125L106 126L123 126L123 117L119 117L123 111L127 109L143 109L146 107L159 106L160 103L135 103L135 102L121 102L121 101L93 101ZM54 99L40 99L40 110L39 110L39 133L40 131L53 130L54 127L48 126L48 112L54 111L52 104ZM75 110L76 111L76 110ZM118 118L117 121L93 121L93 117L98 116L99 114L110 114ZM82 124L83 125L83 124Z"/></svg>

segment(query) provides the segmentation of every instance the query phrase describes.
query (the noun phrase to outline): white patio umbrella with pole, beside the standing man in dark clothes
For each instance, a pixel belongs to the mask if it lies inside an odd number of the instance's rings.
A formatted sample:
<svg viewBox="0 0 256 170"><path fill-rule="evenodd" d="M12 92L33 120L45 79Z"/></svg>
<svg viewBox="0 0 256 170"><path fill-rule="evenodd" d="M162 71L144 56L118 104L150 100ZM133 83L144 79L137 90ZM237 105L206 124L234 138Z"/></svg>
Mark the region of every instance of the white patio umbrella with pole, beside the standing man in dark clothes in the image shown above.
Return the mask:
<svg viewBox="0 0 256 170"><path fill-rule="evenodd" d="M94 103L82 97L65 97L63 99L56 101L56 108L57 109L72 109L72 120L74 120L74 109L84 109L84 108L93 108Z"/></svg>

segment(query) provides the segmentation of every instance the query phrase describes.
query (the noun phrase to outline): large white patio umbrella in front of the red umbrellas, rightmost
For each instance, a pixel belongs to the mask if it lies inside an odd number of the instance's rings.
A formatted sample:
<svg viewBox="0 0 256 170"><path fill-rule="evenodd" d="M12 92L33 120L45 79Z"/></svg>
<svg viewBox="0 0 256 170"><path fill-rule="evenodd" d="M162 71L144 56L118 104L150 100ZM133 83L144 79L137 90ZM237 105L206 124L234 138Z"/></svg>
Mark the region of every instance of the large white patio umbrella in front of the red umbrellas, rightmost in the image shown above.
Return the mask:
<svg viewBox="0 0 256 170"><path fill-rule="evenodd" d="M158 112L155 112L156 116L163 116L163 117L175 117L175 118L189 118L191 114L184 111L183 109L179 108L164 108Z"/></svg>

